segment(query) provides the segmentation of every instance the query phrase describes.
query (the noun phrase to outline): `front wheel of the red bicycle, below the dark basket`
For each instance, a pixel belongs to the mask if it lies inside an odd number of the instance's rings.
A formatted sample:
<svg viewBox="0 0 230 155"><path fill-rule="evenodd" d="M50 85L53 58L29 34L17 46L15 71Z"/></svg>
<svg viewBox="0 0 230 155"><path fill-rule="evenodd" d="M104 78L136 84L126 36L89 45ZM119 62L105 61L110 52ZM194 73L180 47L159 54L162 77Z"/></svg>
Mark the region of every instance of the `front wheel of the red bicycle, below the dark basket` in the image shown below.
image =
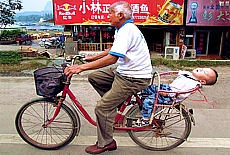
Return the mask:
<svg viewBox="0 0 230 155"><path fill-rule="evenodd" d="M80 130L79 117L62 104L55 120L47 127L57 104L49 99L37 99L26 103L18 111L15 126L20 137L39 149L59 149L69 144Z"/></svg>

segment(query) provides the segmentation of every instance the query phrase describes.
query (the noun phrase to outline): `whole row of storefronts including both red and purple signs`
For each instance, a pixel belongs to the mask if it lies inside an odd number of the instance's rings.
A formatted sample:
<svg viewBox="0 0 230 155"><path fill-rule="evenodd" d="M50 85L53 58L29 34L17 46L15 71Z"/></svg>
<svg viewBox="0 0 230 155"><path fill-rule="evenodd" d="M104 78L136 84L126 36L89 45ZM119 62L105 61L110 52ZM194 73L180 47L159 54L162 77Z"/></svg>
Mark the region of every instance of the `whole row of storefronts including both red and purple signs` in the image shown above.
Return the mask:
<svg viewBox="0 0 230 155"><path fill-rule="evenodd" d="M108 8L117 0L53 0L54 22L65 25L67 41L80 51L101 51L112 46L114 27ZM188 57L217 55L230 58L230 8L227 0L127 0L135 24L150 51L184 44ZM75 46L75 44L73 44ZM188 52L189 54L189 52Z"/></svg>

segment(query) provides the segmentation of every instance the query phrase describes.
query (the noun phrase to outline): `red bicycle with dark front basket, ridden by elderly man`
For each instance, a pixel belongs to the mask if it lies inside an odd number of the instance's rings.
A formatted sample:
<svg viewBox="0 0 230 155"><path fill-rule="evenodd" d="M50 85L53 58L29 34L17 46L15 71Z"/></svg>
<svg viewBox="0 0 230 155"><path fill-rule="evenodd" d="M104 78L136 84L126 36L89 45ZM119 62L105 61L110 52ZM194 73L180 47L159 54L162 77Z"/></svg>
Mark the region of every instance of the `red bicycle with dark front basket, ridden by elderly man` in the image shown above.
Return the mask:
<svg viewBox="0 0 230 155"><path fill-rule="evenodd" d="M67 60L73 65L75 59L81 61L83 56L75 55ZM79 112L89 123L97 125L71 92L69 88L71 79L65 78L63 69L43 68L35 71L34 74L37 94L42 95L43 98L26 103L17 113L15 125L24 141L46 150L66 146L80 132ZM174 74L177 72L155 73L152 81L156 77ZM199 87L187 92L197 90ZM61 95L57 95L59 92ZM175 93L178 95L186 92ZM72 103L65 100L66 95L73 101ZM182 144L191 132L192 122L195 123L192 113L186 110L182 102L162 105L157 103L156 97L150 125L137 127L135 124L142 117L143 99L144 96L138 93L124 101L118 108L114 130L127 131L136 144L148 150L165 151ZM157 107L161 109L156 110Z"/></svg>

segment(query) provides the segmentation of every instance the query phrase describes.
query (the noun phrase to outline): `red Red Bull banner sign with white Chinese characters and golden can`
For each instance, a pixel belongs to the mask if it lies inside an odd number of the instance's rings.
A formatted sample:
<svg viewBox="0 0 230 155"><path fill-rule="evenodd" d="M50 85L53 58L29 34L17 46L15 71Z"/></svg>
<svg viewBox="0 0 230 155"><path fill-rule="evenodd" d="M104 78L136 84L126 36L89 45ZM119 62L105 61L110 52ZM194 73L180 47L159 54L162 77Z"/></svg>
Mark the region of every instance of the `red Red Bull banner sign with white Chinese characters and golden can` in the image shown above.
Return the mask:
<svg viewBox="0 0 230 155"><path fill-rule="evenodd" d="M118 0L53 0L56 25L110 25L109 7ZM135 24L183 25L184 0L127 0Z"/></svg>

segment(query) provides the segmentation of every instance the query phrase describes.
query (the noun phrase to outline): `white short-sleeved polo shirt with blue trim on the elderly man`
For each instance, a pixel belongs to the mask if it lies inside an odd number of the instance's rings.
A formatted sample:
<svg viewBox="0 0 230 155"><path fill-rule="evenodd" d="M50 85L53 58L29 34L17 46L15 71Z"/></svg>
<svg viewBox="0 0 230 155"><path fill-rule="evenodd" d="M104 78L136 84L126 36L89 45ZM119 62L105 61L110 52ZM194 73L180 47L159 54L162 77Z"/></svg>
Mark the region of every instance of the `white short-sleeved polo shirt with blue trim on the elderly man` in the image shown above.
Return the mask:
<svg viewBox="0 0 230 155"><path fill-rule="evenodd" d="M141 31L127 20L116 30L109 54L119 57L117 72L122 76L151 78L152 65L149 49Z"/></svg>

